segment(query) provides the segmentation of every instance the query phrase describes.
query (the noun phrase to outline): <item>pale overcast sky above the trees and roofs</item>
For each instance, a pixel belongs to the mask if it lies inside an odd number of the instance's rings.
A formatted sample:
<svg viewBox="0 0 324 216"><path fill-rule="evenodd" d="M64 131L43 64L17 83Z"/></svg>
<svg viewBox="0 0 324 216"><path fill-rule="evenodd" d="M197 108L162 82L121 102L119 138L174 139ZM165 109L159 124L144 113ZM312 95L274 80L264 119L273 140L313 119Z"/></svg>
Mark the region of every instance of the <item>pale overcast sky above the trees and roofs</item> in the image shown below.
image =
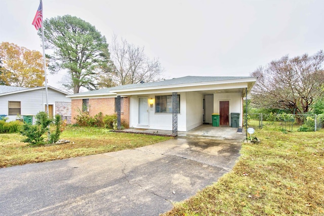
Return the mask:
<svg viewBox="0 0 324 216"><path fill-rule="evenodd" d="M31 22L38 0L0 0L0 42L42 52ZM79 17L107 38L116 34L159 58L166 78L249 76L289 55L324 45L324 0L43 0L44 19ZM63 72L49 77L57 83Z"/></svg>

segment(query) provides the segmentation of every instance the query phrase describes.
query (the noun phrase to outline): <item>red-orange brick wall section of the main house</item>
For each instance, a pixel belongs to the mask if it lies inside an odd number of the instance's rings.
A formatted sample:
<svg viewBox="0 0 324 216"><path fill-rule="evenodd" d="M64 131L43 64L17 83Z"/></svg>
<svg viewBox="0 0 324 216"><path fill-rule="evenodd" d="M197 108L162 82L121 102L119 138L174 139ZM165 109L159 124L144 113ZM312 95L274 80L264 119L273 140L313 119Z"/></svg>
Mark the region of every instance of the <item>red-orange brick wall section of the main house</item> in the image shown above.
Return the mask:
<svg viewBox="0 0 324 216"><path fill-rule="evenodd" d="M72 99L72 114L71 123L76 123L74 117L78 115L78 110L82 110L82 99ZM114 98L90 98L89 99L89 114L95 116L102 112L103 116L115 113L115 99ZM125 122L126 126L130 124L130 98L124 98L124 112L121 113L121 122Z"/></svg>

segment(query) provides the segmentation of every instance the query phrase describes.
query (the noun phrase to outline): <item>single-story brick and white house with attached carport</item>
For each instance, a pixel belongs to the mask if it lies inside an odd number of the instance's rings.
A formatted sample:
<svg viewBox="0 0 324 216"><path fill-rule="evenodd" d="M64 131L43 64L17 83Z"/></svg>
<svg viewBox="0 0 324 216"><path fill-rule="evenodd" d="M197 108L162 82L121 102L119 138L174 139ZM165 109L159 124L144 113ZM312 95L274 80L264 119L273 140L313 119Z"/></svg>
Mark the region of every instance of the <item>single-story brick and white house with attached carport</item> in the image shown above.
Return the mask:
<svg viewBox="0 0 324 216"><path fill-rule="evenodd" d="M85 105L90 106L90 115L115 112L113 101L120 96L121 119L124 118L130 127L173 130L174 93L178 100L177 130L186 132L203 123L212 123L213 113L220 115L220 126L231 126L231 113L239 113L237 126L241 127L242 99L256 80L256 77L185 76L120 85L67 97L72 99L72 117L77 114L77 109Z"/></svg>

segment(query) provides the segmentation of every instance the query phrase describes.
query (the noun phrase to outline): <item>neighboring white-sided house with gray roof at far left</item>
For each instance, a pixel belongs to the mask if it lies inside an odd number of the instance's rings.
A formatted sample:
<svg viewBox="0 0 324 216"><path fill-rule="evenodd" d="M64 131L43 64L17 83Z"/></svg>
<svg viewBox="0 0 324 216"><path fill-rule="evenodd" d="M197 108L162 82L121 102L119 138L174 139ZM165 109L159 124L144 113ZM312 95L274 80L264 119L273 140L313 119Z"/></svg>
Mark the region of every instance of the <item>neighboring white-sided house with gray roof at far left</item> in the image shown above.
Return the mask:
<svg viewBox="0 0 324 216"><path fill-rule="evenodd" d="M49 115L71 116L71 99L68 94L53 87L48 87ZM8 121L17 117L35 116L46 111L45 87L22 88L0 85L0 115L7 115ZM33 118L33 121L35 119Z"/></svg>

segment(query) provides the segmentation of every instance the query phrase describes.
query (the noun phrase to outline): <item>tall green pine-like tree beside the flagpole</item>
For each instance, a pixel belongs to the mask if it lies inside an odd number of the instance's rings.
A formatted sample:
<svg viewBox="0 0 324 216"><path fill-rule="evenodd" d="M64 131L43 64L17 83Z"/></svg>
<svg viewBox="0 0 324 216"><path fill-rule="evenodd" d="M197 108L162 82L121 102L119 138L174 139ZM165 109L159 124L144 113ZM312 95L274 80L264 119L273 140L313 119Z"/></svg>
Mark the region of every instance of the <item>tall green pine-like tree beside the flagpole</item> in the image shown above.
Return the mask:
<svg viewBox="0 0 324 216"><path fill-rule="evenodd" d="M54 51L49 55L52 73L67 69L71 78L63 85L74 94L80 87L97 89L97 79L107 71L109 62L106 38L95 26L70 15L46 19L44 29L45 47Z"/></svg>

